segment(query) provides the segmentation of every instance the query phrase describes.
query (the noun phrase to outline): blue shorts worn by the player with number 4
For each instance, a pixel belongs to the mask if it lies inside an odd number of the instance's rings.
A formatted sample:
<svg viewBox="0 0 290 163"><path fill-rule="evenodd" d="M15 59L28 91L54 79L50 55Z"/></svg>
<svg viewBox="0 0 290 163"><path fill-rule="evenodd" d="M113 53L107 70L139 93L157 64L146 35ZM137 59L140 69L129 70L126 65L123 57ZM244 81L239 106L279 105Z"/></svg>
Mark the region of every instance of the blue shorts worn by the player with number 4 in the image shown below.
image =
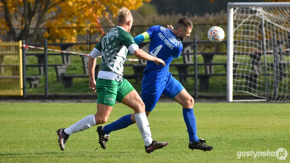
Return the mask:
<svg viewBox="0 0 290 163"><path fill-rule="evenodd" d="M142 80L141 98L145 104L145 110L152 111L161 94L174 99L183 89L184 87L171 73L168 74L167 80L163 82L152 82L144 76Z"/></svg>

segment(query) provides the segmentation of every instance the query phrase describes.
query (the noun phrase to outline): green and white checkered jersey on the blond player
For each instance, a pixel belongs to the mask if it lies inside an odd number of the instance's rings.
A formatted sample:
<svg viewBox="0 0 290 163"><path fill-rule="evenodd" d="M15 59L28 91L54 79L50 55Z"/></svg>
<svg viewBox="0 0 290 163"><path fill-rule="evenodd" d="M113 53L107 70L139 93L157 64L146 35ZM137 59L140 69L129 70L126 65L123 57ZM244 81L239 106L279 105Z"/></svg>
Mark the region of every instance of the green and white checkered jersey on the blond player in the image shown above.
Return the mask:
<svg viewBox="0 0 290 163"><path fill-rule="evenodd" d="M122 27L112 28L95 46L102 52L98 78L123 81L124 62L128 49L137 46L133 37Z"/></svg>

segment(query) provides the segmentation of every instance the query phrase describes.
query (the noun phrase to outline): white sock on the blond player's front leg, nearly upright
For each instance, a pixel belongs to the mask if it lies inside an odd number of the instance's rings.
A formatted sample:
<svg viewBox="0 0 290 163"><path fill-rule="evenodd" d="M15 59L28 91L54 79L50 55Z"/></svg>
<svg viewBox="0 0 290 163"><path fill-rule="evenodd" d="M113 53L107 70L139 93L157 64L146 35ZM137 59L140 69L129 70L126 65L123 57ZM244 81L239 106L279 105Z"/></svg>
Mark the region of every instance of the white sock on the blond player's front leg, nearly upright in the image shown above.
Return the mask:
<svg viewBox="0 0 290 163"><path fill-rule="evenodd" d="M135 121L142 135L145 146L149 146L153 139L151 138L151 131L149 127L149 122L146 117L146 113L136 113Z"/></svg>

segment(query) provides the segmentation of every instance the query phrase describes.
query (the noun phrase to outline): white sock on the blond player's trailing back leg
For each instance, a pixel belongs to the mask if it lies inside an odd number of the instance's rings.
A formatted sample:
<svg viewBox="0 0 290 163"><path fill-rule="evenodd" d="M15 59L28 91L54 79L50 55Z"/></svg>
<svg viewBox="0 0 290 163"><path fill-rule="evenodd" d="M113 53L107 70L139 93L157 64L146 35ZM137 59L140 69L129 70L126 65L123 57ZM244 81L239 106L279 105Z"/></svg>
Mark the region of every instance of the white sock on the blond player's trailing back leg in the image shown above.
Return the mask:
<svg viewBox="0 0 290 163"><path fill-rule="evenodd" d="M79 122L71 125L69 128L64 129L64 132L66 134L71 135L73 133L77 133L79 131L84 131L86 129L89 129L95 125L97 125L96 120L95 120L95 115L88 115L84 117L83 119L81 119Z"/></svg>

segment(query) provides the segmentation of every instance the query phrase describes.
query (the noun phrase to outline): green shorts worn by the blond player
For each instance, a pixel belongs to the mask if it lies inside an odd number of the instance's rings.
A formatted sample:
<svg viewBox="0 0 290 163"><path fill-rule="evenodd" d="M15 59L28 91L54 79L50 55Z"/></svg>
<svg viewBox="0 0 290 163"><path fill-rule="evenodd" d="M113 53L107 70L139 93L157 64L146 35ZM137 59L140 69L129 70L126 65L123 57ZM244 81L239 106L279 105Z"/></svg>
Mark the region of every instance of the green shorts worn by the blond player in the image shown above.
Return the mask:
<svg viewBox="0 0 290 163"><path fill-rule="evenodd" d="M133 86L124 78L123 82L98 78L96 89L98 93L97 103L112 107L115 101L121 102L128 93L134 90Z"/></svg>

